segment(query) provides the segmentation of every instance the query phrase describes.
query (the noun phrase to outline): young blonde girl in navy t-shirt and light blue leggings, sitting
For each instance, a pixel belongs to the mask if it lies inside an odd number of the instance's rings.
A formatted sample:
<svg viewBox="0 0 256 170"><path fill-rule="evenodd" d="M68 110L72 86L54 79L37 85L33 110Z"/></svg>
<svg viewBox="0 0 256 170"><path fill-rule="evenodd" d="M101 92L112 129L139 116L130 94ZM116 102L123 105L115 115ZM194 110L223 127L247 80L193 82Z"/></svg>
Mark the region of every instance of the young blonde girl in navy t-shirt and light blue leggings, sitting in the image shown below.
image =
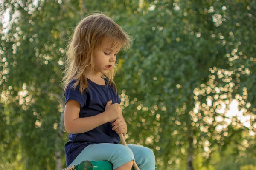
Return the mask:
<svg viewBox="0 0 256 170"><path fill-rule="evenodd" d="M129 48L130 37L109 17L92 14L78 23L71 38L63 77L67 166L94 160L131 170L135 160L140 170L154 170L149 148L119 144L127 125L113 78L116 55Z"/></svg>

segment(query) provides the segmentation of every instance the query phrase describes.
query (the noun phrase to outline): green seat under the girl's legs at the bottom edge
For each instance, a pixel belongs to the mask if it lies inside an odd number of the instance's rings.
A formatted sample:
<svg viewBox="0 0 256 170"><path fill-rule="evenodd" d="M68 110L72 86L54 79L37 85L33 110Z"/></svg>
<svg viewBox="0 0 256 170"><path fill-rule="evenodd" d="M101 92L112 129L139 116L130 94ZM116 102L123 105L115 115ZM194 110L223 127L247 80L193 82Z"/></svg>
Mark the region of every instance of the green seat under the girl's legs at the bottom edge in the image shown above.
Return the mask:
<svg viewBox="0 0 256 170"><path fill-rule="evenodd" d="M67 167L63 170L113 170L113 165L108 161L82 161L80 164ZM134 170L134 168L131 168L131 170Z"/></svg>

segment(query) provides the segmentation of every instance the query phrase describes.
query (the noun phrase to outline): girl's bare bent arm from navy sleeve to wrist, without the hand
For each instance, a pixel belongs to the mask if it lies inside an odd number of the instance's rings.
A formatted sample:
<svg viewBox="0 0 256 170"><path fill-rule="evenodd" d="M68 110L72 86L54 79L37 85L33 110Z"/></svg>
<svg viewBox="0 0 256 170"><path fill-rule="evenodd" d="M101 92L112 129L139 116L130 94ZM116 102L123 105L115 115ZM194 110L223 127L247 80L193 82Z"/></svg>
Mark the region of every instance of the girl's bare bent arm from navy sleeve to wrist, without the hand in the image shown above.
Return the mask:
<svg viewBox="0 0 256 170"><path fill-rule="evenodd" d="M76 134L90 131L104 123L110 122L106 112L96 116L79 118L80 104L76 100L68 100L64 111L64 126L67 133Z"/></svg>

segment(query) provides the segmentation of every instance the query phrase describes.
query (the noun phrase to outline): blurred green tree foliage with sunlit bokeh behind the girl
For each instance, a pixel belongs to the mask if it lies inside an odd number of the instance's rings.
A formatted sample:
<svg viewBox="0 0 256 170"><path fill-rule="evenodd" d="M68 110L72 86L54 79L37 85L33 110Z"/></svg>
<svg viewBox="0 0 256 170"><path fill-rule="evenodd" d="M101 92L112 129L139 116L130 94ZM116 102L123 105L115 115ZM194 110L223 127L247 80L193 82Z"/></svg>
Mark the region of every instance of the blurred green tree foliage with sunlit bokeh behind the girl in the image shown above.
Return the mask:
<svg viewBox="0 0 256 170"><path fill-rule="evenodd" d="M163 170L255 169L254 0L3 0L0 168L65 167L65 47L98 10L132 35L115 77L127 142L154 150ZM247 116L220 112L238 109Z"/></svg>

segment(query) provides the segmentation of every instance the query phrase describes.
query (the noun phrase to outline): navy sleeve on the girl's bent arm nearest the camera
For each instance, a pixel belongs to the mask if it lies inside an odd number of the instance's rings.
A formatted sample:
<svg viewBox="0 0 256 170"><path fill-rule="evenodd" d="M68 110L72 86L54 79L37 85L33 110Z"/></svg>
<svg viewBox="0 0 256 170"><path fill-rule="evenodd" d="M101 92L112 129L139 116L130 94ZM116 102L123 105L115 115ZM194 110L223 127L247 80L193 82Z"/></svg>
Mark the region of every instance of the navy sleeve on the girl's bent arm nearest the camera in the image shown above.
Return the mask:
<svg viewBox="0 0 256 170"><path fill-rule="evenodd" d="M75 89L72 87L73 83L71 82L68 87L67 91L65 92L65 104L68 100L76 100L80 103L81 108L85 105L85 101L87 99L86 93L83 93L83 95L79 92L79 86L77 86Z"/></svg>

